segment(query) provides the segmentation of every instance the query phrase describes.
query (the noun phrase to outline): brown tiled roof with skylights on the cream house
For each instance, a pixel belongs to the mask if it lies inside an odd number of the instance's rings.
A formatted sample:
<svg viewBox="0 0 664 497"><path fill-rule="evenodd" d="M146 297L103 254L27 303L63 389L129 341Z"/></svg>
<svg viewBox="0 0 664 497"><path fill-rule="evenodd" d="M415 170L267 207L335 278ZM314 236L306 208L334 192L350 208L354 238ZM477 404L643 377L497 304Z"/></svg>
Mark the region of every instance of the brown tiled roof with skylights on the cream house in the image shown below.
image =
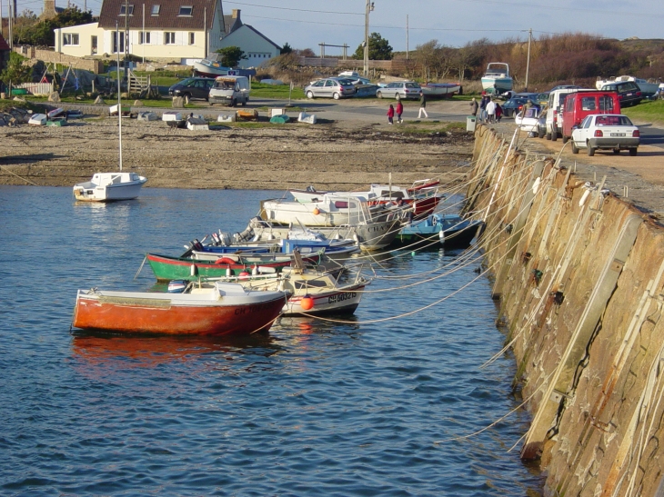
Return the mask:
<svg viewBox="0 0 664 497"><path fill-rule="evenodd" d="M204 18L207 29L212 29L215 7L220 0L129 0L129 12L134 10L127 20L131 29L143 27L143 5L146 5L146 29L202 30ZM104 0L99 14L99 27L115 29L116 22L122 30L125 28L125 15L120 9L126 0ZM159 15L152 15L153 6L158 5ZM191 15L179 15L181 6L192 7ZM206 13L206 14L205 14Z"/></svg>

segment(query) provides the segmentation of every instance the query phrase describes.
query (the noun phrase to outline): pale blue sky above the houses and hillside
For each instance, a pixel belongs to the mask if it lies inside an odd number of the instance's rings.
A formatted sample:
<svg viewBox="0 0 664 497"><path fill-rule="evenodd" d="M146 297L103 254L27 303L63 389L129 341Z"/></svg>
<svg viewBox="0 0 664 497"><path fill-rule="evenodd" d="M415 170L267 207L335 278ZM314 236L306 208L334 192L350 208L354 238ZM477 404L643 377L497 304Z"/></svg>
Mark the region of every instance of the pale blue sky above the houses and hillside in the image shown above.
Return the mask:
<svg viewBox="0 0 664 497"><path fill-rule="evenodd" d="M93 15L102 0L69 0ZM166 0L165 0L166 1ZM186 5L186 0L180 1ZM7 13L7 0L2 3ZM139 5L140 0L129 0ZM661 0L373 0L369 31L387 38L395 51L415 50L436 39L441 45L463 46L480 38L498 42L507 38L528 39L544 34L589 33L608 38L664 38ZM30 9L39 15L43 0L17 0L17 11ZM55 0L66 7L66 0ZM349 45L348 55L364 39L366 0L222 0L225 14L241 10L242 21L252 25L277 45L311 48ZM408 25L408 29L407 29ZM341 55L342 48L328 46L326 55Z"/></svg>

